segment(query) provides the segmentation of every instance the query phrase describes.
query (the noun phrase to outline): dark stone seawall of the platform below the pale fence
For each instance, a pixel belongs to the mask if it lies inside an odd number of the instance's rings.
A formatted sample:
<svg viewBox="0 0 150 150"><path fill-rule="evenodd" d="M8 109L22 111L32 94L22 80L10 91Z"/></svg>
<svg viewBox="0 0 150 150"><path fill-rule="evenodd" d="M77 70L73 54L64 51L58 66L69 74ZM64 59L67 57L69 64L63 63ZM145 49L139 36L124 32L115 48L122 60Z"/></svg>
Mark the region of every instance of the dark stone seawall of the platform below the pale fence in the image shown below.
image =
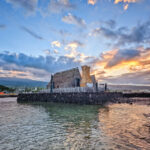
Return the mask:
<svg viewBox="0 0 150 150"><path fill-rule="evenodd" d="M106 102L116 102L122 97L122 93L117 92L97 92L97 93L34 93L19 94L17 102L56 102L101 105Z"/></svg>

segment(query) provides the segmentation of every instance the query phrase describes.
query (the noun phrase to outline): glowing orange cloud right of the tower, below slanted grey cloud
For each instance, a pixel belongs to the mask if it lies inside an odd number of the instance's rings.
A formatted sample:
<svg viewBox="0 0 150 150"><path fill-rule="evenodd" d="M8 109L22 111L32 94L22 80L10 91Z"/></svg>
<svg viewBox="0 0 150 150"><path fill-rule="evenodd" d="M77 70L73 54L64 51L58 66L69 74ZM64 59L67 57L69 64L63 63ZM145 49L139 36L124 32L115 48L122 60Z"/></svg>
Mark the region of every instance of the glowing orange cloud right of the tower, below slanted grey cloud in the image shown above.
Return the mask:
<svg viewBox="0 0 150 150"><path fill-rule="evenodd" d="M132 52L130 54L132 57L129 57L127 53L123 53L122 56L117 49L102 53L100 59L92 67L92 74L95 74L96 78L101 81L102 78L110 76L117 77L127 73L136 73L137 71L148 71L150 68L150 49L141 48L137 52L139 54L135 56ZM120 56L120 58L116 56ZM108 64L113 62L114 59L120 60L109 66Z"/></svg>

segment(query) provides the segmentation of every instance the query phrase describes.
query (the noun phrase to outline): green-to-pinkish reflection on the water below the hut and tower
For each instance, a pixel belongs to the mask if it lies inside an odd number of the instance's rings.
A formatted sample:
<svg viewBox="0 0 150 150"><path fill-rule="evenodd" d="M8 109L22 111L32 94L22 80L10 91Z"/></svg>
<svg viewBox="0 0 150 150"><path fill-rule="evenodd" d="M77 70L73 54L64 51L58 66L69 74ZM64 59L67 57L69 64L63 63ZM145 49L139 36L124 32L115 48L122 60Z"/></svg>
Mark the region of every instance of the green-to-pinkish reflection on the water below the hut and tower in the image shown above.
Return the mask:
<svg viewBox="0 0 150 150"><path fill-rule="evenodd" d="M60 136L63 134L61 138L64 148L98 150L110 147L108 138L99 129L97 114L101 106L52 103L33 106L44 107L51 121L59 125L57 128L61 129Z"/></svg>

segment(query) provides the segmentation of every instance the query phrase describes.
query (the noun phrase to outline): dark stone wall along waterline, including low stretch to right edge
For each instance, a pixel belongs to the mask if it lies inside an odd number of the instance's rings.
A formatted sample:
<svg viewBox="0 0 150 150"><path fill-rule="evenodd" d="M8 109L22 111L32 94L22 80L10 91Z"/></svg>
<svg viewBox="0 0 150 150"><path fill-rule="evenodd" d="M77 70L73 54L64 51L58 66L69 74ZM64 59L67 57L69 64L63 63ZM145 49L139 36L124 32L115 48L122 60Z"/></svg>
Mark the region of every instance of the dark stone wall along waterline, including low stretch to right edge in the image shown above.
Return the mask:
<svg viewBox="0 0 150 150"><path fill-rule="evenodd" d="M102 105L111 103L149 102L150 93L122 93L122 92L83 92L83 93L28 93L19 94L17 102L56 102L72 104Z"/></svg>

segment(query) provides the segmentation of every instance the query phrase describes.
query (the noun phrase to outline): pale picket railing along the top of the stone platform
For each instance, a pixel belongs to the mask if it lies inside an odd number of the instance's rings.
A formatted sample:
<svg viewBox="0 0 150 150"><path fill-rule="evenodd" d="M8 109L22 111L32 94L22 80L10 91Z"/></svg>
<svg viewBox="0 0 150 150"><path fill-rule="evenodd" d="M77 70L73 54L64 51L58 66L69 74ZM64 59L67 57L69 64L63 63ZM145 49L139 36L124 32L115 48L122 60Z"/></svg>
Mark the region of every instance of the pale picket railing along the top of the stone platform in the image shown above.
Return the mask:
<svg viewBox="0 0 150 150"><path fill-rule="evenodd" d="M104 91L104 88L99 87L97 90L93 87L57 88L52 91L53 93L100 92ZM41 90L40 93L50 93L50 89Z"/></svg>

